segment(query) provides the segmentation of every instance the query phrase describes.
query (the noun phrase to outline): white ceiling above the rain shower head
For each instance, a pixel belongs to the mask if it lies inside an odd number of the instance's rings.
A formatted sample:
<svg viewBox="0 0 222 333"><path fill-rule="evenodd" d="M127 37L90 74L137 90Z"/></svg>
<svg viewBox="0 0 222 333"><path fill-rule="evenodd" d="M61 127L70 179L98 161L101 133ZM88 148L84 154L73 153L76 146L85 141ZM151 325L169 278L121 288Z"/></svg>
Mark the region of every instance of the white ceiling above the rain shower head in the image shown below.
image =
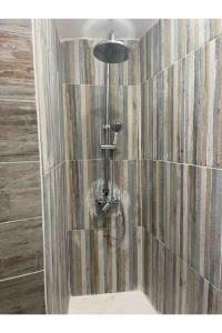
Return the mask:
<svg viewBox="0 0 222 333"><path fill-rule="evenodd" d="M113 30L118 39L139 39L157 19L56 19L60 39L108 38Z"/></svg>

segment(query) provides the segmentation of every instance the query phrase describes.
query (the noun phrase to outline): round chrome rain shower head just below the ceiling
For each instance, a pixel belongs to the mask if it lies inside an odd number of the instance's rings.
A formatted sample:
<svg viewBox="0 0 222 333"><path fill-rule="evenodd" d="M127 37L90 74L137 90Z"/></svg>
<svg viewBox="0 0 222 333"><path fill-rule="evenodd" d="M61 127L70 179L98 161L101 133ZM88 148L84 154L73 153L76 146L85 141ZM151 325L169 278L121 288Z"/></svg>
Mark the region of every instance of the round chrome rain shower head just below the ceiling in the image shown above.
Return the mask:
<svg viewBox="0 0 222 333"><path fill-rule="evenodd" d="M93 54L100 61L120 63L129 59L129 48L123 42L114 40L112 33L110 40L102 41L94 47Z"/></svg>

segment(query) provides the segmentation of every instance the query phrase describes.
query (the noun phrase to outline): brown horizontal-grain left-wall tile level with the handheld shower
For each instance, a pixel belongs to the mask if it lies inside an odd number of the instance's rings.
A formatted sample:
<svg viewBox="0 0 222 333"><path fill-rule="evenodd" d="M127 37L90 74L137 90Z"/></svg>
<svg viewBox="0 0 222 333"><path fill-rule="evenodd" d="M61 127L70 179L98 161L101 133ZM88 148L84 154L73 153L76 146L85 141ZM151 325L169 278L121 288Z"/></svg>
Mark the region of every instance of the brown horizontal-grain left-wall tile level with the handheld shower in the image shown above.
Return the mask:
<svg viewBox="0 0 222 333"><path fill-rule="evenodd" d="M0 101L0 162L38 161L36 103Z"/></svg>

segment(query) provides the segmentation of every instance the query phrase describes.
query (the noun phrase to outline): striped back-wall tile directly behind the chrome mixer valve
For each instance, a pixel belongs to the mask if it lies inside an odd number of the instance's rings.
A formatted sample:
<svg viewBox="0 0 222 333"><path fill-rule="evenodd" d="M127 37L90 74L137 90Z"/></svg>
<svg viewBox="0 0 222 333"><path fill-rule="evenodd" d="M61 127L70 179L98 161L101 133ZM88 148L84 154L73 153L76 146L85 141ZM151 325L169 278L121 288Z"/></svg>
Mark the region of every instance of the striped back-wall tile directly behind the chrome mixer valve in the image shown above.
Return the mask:
<svg viewBox="0 0 222 333"><path fill-rule="evenodd" d="M138 163L119 160L113 161L113 167L114 195L122 201L130 225L139 225ZM69 168L70 225L72 229L97 229L101 221L95 218L94 200L98 195L103 195L104 160L72 161ZM111 174L112 161L109 162L109 169Z"/></svg>

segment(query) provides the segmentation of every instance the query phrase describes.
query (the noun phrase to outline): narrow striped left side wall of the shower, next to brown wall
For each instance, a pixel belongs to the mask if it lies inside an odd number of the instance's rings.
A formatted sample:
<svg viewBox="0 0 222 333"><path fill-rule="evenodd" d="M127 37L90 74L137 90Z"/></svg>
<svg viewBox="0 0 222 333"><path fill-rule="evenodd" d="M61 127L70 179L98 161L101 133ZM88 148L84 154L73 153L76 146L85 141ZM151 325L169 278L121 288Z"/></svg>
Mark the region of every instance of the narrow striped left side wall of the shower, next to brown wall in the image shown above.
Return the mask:
<svg viewBox="0 0 222 333"><path fill-rule="evenodd" d="M52 20L33 20L32 27L43 192L47 312L67 313L70 291L62 48Z"/></svg>

